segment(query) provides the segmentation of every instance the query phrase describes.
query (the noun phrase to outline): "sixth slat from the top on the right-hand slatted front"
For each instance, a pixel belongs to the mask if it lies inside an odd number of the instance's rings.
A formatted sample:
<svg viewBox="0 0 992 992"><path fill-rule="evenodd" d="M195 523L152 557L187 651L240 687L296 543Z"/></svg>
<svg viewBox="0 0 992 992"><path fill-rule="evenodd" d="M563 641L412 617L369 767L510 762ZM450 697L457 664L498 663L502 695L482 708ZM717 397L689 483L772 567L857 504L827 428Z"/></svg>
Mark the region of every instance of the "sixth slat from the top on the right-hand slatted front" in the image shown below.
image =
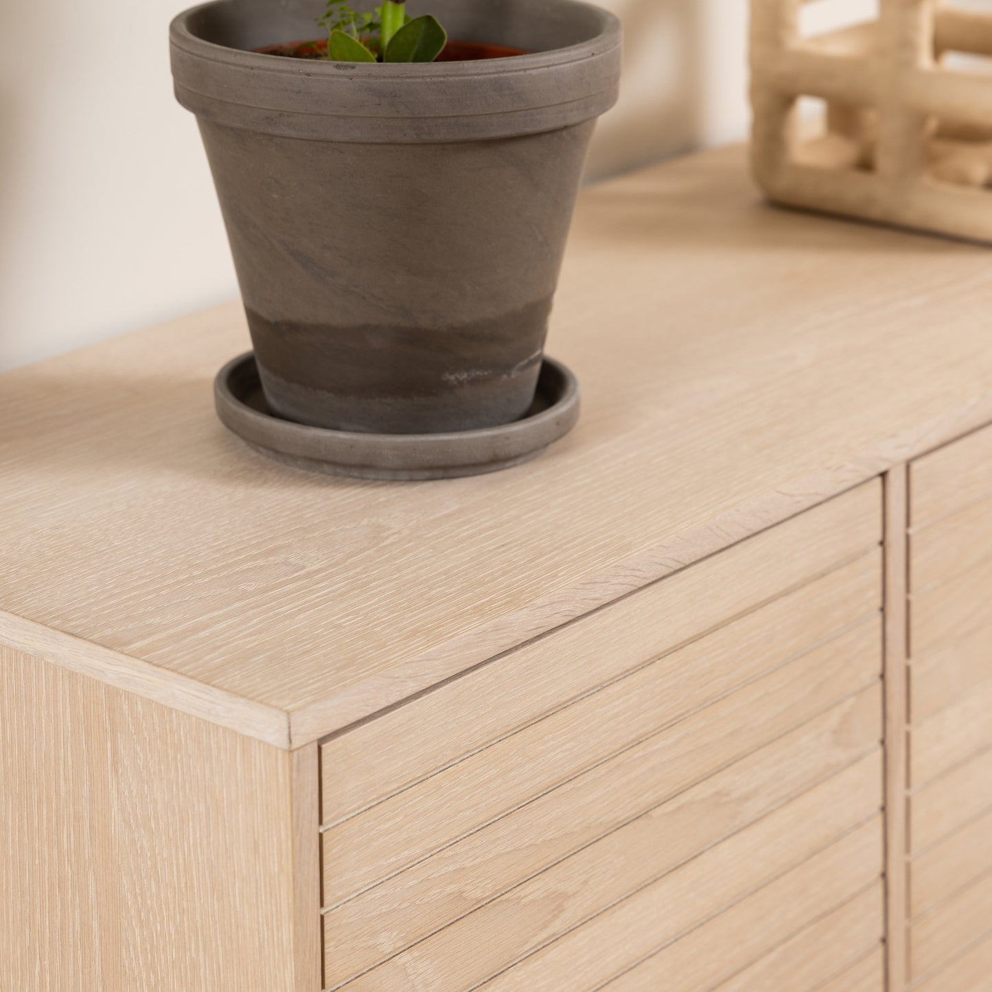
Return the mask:
<svg viewBox="0 0 992 992"><path fill-rule="evenodd" d="M924 850L980 815L992 797L992 750L910 796L910 849Z"/></svg>

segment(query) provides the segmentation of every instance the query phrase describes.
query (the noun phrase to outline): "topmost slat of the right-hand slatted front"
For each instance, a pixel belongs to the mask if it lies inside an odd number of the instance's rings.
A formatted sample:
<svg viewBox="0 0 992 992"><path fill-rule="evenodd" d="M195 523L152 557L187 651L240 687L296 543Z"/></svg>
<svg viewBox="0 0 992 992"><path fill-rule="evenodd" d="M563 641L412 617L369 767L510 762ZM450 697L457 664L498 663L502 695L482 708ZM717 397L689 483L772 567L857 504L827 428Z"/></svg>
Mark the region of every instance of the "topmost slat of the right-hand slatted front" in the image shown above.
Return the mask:
<svg viewBox="0 0 992 992"><path fill-rule="evenodd" d="M910 468L914 529L992 495L992 429L946 444Z"/></svg>

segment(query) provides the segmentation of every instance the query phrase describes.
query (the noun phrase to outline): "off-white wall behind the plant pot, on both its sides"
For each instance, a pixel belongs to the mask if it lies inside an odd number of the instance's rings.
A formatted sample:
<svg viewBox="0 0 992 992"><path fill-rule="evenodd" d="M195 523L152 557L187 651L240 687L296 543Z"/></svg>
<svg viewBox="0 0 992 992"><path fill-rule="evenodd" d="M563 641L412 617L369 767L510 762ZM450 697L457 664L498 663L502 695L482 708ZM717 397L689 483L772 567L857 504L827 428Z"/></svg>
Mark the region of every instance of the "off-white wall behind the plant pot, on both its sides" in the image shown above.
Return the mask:
<svg viewBox="0 0 992 992"><path fill-rule="evenodd" d="M746 0L603 2L627 69L591 177L744 134ZM236 295L172 96L167 26L186 5L0 0L0 368Z"/></svg>

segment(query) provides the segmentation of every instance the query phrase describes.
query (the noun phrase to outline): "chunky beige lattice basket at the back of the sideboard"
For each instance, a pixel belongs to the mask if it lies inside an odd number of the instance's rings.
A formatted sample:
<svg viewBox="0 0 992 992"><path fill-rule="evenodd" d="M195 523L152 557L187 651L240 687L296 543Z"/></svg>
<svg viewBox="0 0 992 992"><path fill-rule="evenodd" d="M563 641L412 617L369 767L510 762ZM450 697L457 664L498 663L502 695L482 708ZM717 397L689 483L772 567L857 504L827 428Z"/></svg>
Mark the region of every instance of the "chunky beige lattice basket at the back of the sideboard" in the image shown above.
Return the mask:
<svg viewBox="0 0 992 992"><path fill-rule="evenodd" d="M876 21L814 38L801 6L751 3L758 184L793 206L992 242L992 74L952 55L992 57L992 5L881 0ZM803 96L826 104L814 137Z"/></svg>

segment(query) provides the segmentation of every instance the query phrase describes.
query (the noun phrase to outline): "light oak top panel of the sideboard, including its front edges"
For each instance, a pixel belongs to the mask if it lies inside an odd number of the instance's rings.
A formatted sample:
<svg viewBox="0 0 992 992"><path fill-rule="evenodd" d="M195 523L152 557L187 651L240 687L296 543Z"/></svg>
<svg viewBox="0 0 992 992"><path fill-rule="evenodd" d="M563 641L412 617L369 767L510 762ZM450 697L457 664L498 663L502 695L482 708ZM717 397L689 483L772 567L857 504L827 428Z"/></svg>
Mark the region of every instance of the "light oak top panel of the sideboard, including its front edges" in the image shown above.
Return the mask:
<svg viewBox="0 0 992 992"><path fill-rule="evenodd" d="M990 303L988 250L769 207L729 149L583 194L583 416L501 474L251 451L236 305L7 373L0 641L298 746L992 421Z"/></svg>

